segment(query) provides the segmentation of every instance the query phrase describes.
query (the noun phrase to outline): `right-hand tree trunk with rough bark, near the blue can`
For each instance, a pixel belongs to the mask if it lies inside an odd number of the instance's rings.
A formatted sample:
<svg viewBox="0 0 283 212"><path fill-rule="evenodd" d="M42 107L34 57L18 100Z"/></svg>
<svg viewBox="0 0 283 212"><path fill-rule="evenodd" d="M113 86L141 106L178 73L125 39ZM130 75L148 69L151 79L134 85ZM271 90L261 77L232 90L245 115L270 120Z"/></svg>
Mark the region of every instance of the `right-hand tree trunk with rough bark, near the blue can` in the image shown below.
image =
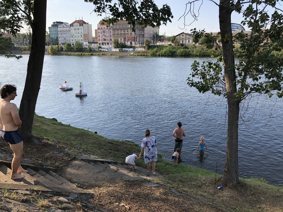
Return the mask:
<svg viewBox="0 0 283 212"><path fill-rule="evenodd" d="M223 184L233 186L239 183L238 174L238 120L239 100L234 98L237 92L235 59L233 52L232 30L231 30L230 1L220 0L219 3L219 26L222 39L224 74L228 102L228 130L226 162L223 172Z"/></svg>

